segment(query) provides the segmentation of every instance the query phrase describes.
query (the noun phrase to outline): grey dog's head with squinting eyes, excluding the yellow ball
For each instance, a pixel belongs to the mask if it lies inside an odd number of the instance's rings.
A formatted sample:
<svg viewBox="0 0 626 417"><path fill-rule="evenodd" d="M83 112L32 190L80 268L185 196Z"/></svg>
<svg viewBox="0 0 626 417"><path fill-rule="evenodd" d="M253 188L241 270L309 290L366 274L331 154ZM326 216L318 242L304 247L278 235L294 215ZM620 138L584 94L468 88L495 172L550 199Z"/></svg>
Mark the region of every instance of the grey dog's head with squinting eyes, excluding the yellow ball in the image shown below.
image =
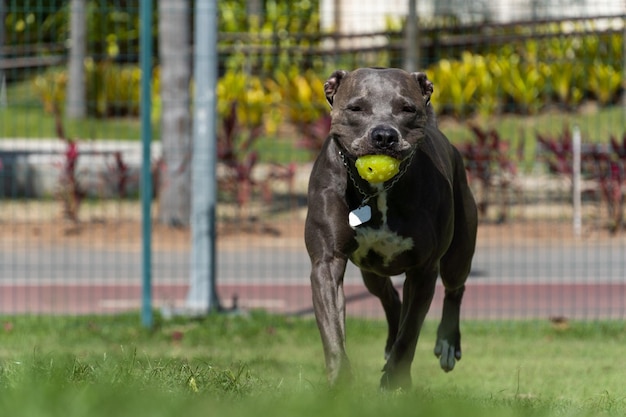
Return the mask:
<svg viewBox="0 0 626 417"><path fill-rule="evenodd" d="M332 106L330 135L354 157L404 159L434 123L426 74L392 68L335 71L324 84ZM431 120L432 119L432 120Z"/></svg>

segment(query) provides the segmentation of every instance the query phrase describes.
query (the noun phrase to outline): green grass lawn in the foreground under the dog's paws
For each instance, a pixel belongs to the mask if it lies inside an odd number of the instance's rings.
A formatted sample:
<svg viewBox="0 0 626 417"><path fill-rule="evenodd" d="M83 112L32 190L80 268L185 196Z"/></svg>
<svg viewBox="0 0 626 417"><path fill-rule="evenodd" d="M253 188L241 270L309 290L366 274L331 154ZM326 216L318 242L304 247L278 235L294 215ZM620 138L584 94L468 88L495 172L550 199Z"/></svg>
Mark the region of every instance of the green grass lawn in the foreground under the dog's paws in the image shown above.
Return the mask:
<svg viewBox="0 0 626 417"><path fill-rule="evenodd" d="M414 388L380 392L385 326L348 321L355 373L327 389L314 320L254 313L159 322L135 315L4 317L0 413L14 416L618 416L626 413L622 322L466 322L443 373L427 322Z"/></svg>

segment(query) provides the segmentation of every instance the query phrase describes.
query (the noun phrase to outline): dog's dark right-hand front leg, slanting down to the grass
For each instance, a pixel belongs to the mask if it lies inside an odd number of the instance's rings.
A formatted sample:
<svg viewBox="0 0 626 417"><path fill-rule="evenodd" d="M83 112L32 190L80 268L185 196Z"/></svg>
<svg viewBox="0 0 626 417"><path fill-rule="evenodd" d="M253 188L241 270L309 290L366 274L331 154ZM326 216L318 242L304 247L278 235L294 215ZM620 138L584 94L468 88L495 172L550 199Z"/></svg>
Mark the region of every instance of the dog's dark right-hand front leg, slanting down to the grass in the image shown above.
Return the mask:
<svg viewBox="0 0 626 417"><path fill-rule="evenodd" d="M398 335L383 368L381 388L411 386L411 364L415 356L415 347L435 293L436 282L437 268L407 272L402 292Z"/></svg>

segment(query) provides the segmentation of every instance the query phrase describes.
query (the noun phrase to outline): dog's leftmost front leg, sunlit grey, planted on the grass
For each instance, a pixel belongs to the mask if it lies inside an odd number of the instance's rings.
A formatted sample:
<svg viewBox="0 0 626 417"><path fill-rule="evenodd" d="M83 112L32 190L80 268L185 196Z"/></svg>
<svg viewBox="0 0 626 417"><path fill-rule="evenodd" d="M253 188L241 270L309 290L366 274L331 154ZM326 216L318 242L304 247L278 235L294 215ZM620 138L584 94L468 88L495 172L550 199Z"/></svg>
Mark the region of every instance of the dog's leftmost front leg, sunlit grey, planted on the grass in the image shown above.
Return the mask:
<svg viewBox="0 0 626 417"><path fill-rule="evenodd" d="M343 293L343 275L347 259L313 263L311 288L317 326L322 336L326 372L331 385L337 385L351 376L346 355L346 302Z"/></svg>

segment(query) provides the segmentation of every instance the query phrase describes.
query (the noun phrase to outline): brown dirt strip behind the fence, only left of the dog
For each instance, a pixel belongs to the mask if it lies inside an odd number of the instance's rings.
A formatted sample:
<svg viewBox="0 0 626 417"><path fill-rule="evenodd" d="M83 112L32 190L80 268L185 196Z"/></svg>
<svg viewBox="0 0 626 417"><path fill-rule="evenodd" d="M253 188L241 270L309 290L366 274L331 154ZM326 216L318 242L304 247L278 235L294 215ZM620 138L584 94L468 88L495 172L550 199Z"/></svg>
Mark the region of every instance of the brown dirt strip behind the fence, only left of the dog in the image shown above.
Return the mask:
<svg viewBox="0 0 626 417"><path fill-rule="evenodd" d="M41 203L4 204L0 217L0 247L23 249L63 246L101 248L102 250L141 251L142 224L138 204L98 205L81 211L81 221L64 220L58 205ZM241 247L303 247L304 214L296 211L267 221L220 221L219 245L225 249ZM151 225L155 251L188 251L189 228ZM242 246L243 245L243 246Z"/></svg>

